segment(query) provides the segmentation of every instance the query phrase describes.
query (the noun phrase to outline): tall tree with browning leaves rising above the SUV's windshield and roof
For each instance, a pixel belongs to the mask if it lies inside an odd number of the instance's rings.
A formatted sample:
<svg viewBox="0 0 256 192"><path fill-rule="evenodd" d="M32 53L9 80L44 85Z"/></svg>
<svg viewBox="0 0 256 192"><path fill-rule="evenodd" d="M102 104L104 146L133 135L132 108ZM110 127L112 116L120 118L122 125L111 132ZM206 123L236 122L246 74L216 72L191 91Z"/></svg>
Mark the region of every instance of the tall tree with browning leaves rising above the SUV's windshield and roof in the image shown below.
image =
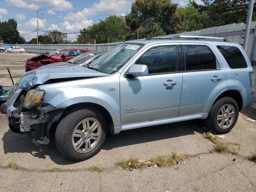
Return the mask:
<svg viewBox="0 0 256 192"><path fill-rule="evenodd" d="M133 32L141 28L142 38L180 32L185 14L176 12L177 6L170 0L136 0L131 13L125 16L126 24Z"/></svg>

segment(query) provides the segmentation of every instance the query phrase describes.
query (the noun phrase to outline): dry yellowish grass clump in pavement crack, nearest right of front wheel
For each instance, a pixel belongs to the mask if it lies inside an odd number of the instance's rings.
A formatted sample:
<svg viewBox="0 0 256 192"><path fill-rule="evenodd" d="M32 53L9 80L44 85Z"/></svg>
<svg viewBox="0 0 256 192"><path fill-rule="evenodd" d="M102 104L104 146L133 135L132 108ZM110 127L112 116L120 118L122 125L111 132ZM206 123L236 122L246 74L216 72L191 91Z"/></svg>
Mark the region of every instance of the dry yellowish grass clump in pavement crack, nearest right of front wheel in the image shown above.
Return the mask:
<svg viewBox="0 0 256 192"><path fill-rule="evenodd" d="M141 169L146 166L147 164L140 162L138 158L130 158L128 160L122 160L116 163L122 169Z"/></svg>

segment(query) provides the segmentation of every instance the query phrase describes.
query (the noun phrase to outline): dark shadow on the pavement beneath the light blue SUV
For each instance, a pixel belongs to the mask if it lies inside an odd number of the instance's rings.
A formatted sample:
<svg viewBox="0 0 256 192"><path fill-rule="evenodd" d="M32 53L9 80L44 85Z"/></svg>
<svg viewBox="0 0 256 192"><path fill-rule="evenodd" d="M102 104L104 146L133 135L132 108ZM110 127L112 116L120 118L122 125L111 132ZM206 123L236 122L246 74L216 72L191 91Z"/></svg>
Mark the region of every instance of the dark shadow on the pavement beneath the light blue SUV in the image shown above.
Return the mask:
<svg viewBox="0 0 256 192"><path fill-rule="evenodd" d="M205 126L202 120L190 120L127 130L116 135L108 134L102 149L111 150L122 146L191 135L194 134L194 131L205 132L204 129ZM27 134L16 134L10 130L4 133L2 141L5 154L30 153L35 158L46 159L49 156L53 162L59 165L76 163L64 158L56 148L54 142L50 142L48 145L36 146L31 142L31 138Z"/></svg>

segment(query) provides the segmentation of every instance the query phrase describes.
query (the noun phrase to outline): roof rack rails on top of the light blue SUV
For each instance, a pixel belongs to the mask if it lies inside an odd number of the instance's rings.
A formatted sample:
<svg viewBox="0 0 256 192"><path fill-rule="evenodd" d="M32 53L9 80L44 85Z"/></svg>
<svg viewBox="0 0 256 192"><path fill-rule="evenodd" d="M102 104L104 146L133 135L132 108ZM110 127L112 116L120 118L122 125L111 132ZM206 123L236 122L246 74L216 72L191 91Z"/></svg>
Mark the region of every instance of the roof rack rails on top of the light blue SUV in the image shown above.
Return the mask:
<svg viewBox="0 0 256 192"><path fill-rule="evenodd" d="M151 37L147 38L146 40L183 40L183 39L189 39L189 40L211 40L211 41L216 41L216 40L222 40L225 42L230 42L229 40L222 38L222 37L208 37L208 36L188 36L188 35L176 35L172 38L160 38L160 37Z"/></svg>

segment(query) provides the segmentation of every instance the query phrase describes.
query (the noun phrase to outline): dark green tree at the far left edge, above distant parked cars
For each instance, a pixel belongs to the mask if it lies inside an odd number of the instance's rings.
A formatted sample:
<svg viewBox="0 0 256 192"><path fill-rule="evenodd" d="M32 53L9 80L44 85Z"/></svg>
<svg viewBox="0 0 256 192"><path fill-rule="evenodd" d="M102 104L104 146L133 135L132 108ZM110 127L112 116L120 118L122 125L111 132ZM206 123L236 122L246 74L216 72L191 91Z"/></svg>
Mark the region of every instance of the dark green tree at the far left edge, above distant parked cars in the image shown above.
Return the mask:
<svg viewBox="0 0 256 192"><path fill-rule="evenodd" d="M9 44L25 43L24 37L21 37L17 30L16 20L9 19L8 21L0 22L0 41Z"/></svg>

